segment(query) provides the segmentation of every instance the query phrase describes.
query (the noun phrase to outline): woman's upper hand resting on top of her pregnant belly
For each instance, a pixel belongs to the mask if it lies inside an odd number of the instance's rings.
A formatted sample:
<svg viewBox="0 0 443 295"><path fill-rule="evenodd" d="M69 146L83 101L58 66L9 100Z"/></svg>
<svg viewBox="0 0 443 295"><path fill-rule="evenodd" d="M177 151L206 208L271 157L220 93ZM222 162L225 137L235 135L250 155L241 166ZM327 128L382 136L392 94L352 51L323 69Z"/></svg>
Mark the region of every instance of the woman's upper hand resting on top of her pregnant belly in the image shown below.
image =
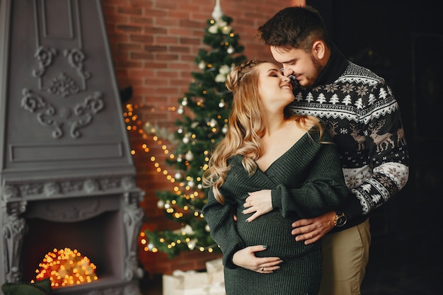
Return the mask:
<svg viewBox="0 0 443 295"><path fill-rule="evenodd" d="M243 207L243 214L253 215L246 219L248 222L257 219L258 216L272 211L271 190L258 190L256 192L248 192L249 197L246 198Z"/></svg>

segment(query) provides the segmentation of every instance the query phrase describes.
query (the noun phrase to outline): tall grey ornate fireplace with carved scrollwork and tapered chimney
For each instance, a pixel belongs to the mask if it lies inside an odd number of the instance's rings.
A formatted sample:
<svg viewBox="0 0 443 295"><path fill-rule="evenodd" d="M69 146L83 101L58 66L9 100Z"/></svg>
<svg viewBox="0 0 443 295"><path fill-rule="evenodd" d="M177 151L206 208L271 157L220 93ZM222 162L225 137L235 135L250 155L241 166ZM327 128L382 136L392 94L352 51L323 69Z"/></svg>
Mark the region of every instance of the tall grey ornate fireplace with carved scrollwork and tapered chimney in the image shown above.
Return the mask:
<svg viewBox="0 0 443 295"><path fill-rule="evenodd" d="M139 295L135 177L100 0L0 0L0 285L73 243L104 278L55 294Z"/></svg>

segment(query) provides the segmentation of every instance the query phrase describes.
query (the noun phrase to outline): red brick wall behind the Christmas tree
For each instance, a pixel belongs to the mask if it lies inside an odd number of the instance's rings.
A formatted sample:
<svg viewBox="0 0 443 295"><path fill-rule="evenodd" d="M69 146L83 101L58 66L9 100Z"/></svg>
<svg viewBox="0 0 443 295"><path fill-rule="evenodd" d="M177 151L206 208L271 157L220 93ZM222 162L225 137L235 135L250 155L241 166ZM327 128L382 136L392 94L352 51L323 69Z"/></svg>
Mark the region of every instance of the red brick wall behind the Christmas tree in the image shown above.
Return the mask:
<svg viewBox="0 0 443 295"><path fill-rule="evenodd" d="M142 207L146 212L144 226L149 229L177 228L156 206L156 190L171 189L163 175L166 154L162 145L150 134L139 133L145 122L171 127L177 116L174 108L178 98L188 90L197 51L204 47L202 35L211 18L215 0L102 0L105 23L119 88L132 86L129 101L138 107L134 114L134 130L129 132L137 183L146 192ZM248 58L267 59L272 56L255 38L256 28L280 9L294 5L280 0L222 0L222 11L234 19L231 26L240 35ZM137 125L138 122L138 125ZM149 150L143 151L142 144ZM171 147L172 149L172 147ZM152 158L152 157L155 157ZM159 164L160 172L156 171ZM173 173L172 173L173 174ZM141 247L142 248L142 247ZM199 252L183 253L168 260L163 253L140 251L141 261L151 274L171 273L205 267L205 261L217 255Z"/></svg>

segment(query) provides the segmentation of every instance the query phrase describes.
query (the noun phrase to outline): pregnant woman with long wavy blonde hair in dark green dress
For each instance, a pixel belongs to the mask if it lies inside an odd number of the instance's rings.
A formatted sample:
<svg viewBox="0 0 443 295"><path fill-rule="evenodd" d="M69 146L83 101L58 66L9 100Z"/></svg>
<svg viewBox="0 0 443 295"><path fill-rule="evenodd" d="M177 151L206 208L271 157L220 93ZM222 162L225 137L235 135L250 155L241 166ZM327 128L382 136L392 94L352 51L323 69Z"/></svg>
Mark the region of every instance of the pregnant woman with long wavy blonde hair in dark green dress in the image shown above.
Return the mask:
<svg viewBox="0 0 443 295"><path fill-rule="evenodd" d="M229 129L203 175L210 187L203 214L222 249L226 295L316 295L321 244L296 242L292 222L345 199L335 146L318 119L285 111L292 83L275 64L243 63L226 86L234 93ZM252 192L272 199L272 208L245 204ZM261 209L269 213L253 216Z"/></svg>

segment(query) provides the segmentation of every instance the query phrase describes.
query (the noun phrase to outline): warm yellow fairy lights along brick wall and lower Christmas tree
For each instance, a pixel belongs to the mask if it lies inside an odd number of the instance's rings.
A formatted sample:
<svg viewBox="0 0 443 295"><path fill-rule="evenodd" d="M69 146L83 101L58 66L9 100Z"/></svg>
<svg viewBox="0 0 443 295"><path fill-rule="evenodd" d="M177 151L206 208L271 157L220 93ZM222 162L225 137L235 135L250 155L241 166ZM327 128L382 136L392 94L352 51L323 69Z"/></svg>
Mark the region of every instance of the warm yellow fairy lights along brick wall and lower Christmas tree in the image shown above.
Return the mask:
<svg viewBox="0 0 443 295"><path fill-rule="evenodd" d="M140 144L140 146L132 148L131 154L135 155L137 153L138 148L140 149L140 151L146 154L150 154L149 160L151 161L151 163L153 163L154 168L156 168L156 172L164 175L166 180L168 180L169 182L176 184L176 186L173 187L173 191L176 193L177 197L182 197L185 198L186 200L199 197L200 193L197 190L193 190L195 183L192 180L192 178L190 178L190 176L185 178L186 182L183 181L178 182L178 180L181 178L181 174L177 172L175 173L175 175L172 175L166 168L163 168L161 163L159 163L159 161L157 160L156 156L152 154L151 149L149 149L149 146L151 146L151 144L157 144L161 146L163 153L166 154L168 158L170 158L171 160L176 158L176 161L180 161L181 156L176 156L175 154L171 153L170 149L168 148L168 145L162 140L164 138L168 138L170 134L168 134L164 130L162 132L162 130L159 130L159 127L151 125L151 123L149 122L143 123L142 120L139 119L139 116L137 115L137 110L145 108L144 105L127 103L125 107L126 111L123 113L123 117L127 125L127 131L136 132L143 139L143 142L142 144ZM183 104L180 105L180 107L182 108L177 109L176 107L169 107L167 110L171 112L178 112L180 114L183 113L182 112ZM156 110L155 108L150 108L149 111L155 112ZM223 131L226 132L225 130ZM159 136L159 133L161 133L162 136ZM195 137L195 135L192 134L191 137ZM166 141L172 141L172 139ZM207 169L207 162L209 161L209 156L207 155L208 151L205 151L205 166L202 167L202 169L204 170ZM201 179L197 178L196 180L198 183L197 188L201 189L202 188L200 183ZM180 217L183 216L183 212L178 212L174 208L176 204L177 204L176 199L172 199L171 201L168 200L167 202L164 202L162 199L159 199L159 201L157 202L157 207L159 207L160 209L164 209L168 214L171 214L171 216L173 216L175 219L180 219ZM203 218L201 209L192 206L192 204L187 204L183 206L183 210L185 211L192 210L193 215L196 218L200 219ZM209 226L206 226L205 230L209 233ZM188 245L188 248L190 248L190 250L198 249L201 252L207 251L209 253L212 253L214 252L214 248L219 247L216 243L207 246L198 245L195 239L186 237L187 234L192 232L192 228L190 228L189 225L185 226L183 229L179 229L178 231L180 231L181 235L183 236L183 239L178 239L177 241L172 241L172 242L170 241L167 245L168 248L175 247L177 244L180 243L186 243ZM144 231L141 231L139 233L139 236L140 236L139 241L140 243L142 243L145 252L149 251L153 253L159 252L159 249L156 248L153 243L150 243L147 240L146 233L144 233ZM166 238L159 238L159 242L166 243Z"/></svg>

